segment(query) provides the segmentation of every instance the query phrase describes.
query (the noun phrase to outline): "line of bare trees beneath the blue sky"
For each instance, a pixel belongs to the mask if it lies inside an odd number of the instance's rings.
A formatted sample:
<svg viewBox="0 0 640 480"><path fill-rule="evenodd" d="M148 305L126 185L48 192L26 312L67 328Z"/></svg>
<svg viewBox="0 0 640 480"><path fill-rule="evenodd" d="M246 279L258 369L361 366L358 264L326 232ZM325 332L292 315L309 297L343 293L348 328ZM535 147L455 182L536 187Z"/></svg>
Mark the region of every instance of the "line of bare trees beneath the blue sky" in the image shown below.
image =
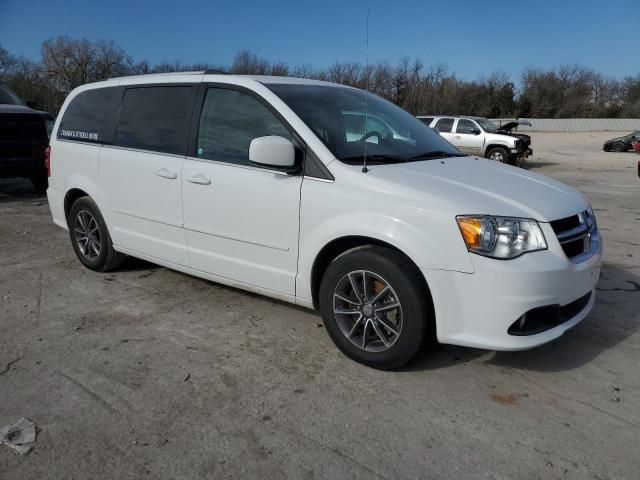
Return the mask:
<svg viewBox="0 0 640 480"><path fill-rule="evenodd" d="M334 63L328 68L290 66L240 50L228 66L134 62L113 41L59 36L42 43L40 59L12 55L0 45L0 83L41 109L57 113L75 87L123 75L189 70L232 74L285 75L327 80L380 95L413 114L461 114L490 118L637 118L640 73L614 78L580 65L525 68L518 86L509 75L494 72L465 80L445 64L420 59L397 63Z"/></svg>

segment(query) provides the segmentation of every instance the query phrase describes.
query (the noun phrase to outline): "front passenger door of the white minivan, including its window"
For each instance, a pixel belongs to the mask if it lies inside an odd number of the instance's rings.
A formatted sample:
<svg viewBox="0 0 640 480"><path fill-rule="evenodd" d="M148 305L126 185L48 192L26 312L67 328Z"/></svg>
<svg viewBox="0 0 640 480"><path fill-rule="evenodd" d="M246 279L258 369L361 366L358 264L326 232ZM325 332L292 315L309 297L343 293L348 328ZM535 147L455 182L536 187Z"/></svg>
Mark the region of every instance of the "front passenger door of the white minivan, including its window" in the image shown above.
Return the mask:
<svg viewBox="0 0 640 480"><path fill-rule="evenodd" d="M232 282L295 295L301 175L249 161L251 140L289 130L244 91L211 87L195 156L183 168L191 267Z"/></svg>

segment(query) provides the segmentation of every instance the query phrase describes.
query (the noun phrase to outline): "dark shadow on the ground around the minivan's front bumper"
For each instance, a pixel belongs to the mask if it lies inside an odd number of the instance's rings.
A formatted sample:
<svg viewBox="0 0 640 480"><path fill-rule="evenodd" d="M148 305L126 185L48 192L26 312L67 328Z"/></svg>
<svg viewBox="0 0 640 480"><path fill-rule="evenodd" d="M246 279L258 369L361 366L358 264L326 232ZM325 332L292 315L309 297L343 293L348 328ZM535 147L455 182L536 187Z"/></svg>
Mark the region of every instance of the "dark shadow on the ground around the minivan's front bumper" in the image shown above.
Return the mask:
<svg viewBox="0 0 640 480"><path fill-rule="evenodd" d="M640 277L620 265L605 263L596 290L591 314L551 343L519 352L438 345L404 370L435 370L468 362L540 372L578 368L640 329Z"/></svg>

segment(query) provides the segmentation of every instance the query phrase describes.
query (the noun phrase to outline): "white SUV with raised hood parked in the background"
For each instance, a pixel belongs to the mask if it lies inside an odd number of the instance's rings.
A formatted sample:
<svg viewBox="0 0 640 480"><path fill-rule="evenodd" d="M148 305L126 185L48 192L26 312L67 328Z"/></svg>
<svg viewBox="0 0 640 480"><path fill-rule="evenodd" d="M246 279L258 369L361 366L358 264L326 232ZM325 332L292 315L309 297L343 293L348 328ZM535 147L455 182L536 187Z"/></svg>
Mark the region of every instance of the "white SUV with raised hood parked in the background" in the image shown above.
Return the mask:
<svg viewBox="0 0 640 480"><path fill-rule="evenodd" d="M469 155L479 155L519 167L526 167L527 158L533 155L531 137L511 133L514 127L523 124L522 121L498 127L482 117L419 115L418 119L436 129L443 138Z"/></svg>

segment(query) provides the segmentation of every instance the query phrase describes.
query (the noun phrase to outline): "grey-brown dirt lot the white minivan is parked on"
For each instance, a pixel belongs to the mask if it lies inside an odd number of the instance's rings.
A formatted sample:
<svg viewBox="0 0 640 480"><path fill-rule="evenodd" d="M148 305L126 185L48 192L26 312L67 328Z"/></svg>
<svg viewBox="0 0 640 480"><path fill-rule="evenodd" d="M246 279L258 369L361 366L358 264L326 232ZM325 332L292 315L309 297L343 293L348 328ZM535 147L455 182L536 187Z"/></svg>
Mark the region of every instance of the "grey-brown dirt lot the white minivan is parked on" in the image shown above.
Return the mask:
<svg viewBox="0 0 640 480"><path fill-rule="evenodd" d="M46 199L0 181L0 478L636 479L640 156L534 133L532 170L592 202L592 315L519 353L442 346L400 372L342 356L315 313L129 261L76 260Z"/></svg>

